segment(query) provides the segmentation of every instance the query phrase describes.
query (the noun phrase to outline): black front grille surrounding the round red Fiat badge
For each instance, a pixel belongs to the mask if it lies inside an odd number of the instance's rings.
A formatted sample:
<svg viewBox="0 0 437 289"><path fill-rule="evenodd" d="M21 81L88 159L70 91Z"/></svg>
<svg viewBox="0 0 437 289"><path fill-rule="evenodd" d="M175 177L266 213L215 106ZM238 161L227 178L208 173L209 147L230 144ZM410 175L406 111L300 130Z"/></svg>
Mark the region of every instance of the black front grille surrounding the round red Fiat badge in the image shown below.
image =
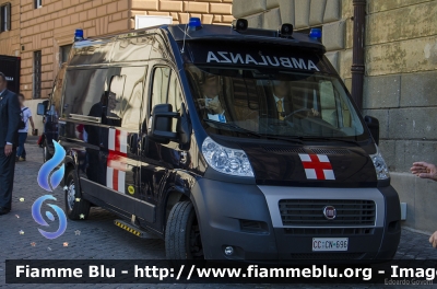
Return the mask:
<svg viewBox="0 0 437 289"><path fill-rule="evenodd" d="M323 216L323 208L333 206L334 220ZM343 227L375 226L376 206L373 200L357 199L281 199L279 203L283 226Z"/></svg>

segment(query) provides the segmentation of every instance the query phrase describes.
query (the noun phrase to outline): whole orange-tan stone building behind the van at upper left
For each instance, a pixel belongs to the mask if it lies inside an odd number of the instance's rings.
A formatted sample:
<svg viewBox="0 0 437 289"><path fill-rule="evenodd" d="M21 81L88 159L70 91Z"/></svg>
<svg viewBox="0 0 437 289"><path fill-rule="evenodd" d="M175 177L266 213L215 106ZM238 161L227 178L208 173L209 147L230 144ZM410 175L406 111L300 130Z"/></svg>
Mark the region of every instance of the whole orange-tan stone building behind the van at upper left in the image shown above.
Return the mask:
<svg viewBox="0 0 437 289"><path fill-rule="evenodd" d="M21 57L21 92L36 113L73 42L133 30L135 15L166 15L173 23L198 16L203 23L231 24L232 0L0 0L11 4L11 27L0 32L0 55ZM42 122L36 127L42 131Z"/></svg>

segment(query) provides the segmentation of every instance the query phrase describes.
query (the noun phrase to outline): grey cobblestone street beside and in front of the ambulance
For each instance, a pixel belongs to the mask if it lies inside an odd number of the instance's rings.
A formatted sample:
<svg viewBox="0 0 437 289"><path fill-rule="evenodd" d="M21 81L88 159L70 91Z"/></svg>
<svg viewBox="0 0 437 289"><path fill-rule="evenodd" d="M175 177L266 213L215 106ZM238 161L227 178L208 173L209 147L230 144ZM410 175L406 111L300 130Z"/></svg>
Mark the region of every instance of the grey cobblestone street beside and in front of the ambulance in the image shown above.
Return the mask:
<svg viewBox="0 0 437 289"><path fill-rule="evenodd" d="M34 141L32 140L34 143ZM32 218L31 207L36 198L46 192L39 188L36 182L37 172L42 165L42 151L35 144L26 144L27 161L16 163L15 184L13 192L12 211L0 217L0 287L11 288L48 288L45 285L4 285L5 259L147 259L164 258L165 250L162 240L144 240L130 234L116 226L116 217L103 209L92 208L88 220L69 221L63 235L55 240L47 240L40 235ZM63 193L61 186L54 196L59 207L63 208ZM22 199L24 198L24 200ZM23 200L23 201L22 201ZM55 222L56 223L56 222ZM56 227L57 224L55 224ZM52 229L55 230L55 229ZM20 231L24 233L21 234ZM50 229L47 229L50 231ZM78 233L80 231L80 234ZM401 244L395 258L399 259L437 259L437 251L428 243L428 235L402 231ZM31 243L35 243L32 246ZM68 246L64 246L64 242ZM56 285L49 288L83 288L81 285ZM96 288L285 288L287 286L271 285L98 285ZM298 286L300 287L300 286ZM302 287L310 287L302 285ZM315 288L332 288L332 285L314 286ZM335 288L365 288L357 286L335 286Z"/></svg>

